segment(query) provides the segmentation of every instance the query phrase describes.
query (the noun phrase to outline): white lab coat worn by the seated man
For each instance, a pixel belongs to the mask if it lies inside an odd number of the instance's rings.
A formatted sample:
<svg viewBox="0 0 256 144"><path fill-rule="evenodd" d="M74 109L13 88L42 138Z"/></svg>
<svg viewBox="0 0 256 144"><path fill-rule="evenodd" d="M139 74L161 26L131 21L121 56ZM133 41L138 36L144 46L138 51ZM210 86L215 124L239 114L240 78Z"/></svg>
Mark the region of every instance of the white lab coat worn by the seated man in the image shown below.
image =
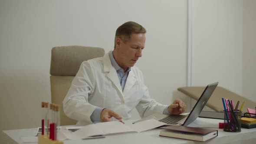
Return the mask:
<svg viewBox="0 0 256 144"><path fill-rule="evenodd" d="M142 72L135 66L131 68L122 92L117 72L106 53L101 58L82 62L63 101L65 114L77 120L77 124L91 124L90 116L97 107L109 108L127 120L131 118L133 108L143 118L163 114L167 105L150 98Z"/></svg>

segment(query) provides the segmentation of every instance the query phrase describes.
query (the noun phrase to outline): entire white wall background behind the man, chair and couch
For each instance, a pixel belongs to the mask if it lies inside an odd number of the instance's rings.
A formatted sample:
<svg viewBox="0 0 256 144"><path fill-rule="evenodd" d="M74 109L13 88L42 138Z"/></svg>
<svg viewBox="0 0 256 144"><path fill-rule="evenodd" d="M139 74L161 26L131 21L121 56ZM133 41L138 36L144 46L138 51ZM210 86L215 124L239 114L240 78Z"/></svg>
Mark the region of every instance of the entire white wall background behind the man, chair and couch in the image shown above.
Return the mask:
<svg viewBox="0 0 256 144"><path fill-rule="evenodd" d="M219 85L253 101L256 93L254 0L194 0L194 86ZM147 29L136 66L153 98L170 104L187 86L187 0L1 0L0 130L40 125L50 101L54 46L114 47L115 30ZM189 104L188 104L189 105Z"/></svg>

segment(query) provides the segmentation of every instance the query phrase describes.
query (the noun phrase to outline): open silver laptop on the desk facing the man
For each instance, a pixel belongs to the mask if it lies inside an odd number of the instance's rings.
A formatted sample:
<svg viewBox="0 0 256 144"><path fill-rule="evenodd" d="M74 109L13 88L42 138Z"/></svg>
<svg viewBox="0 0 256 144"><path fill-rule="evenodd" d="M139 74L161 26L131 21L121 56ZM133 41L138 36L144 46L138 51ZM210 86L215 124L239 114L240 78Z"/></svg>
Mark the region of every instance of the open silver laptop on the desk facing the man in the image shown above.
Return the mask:
<svg viewBox="0 0 256 144"><path fill-rule="evenodd" d="M207 101L209 100L210 96L213 94L213 91L217 87L219 82L215 82L213 84L207 85L204 89L202 95L198 99L196 105L189 113L189 115L151 115L146 118L142 118L141 120L135 121L137 123L139 121L144 121L147 119L154 118L158 121L166 123L165 125L183 125L187 126L188 124L192 123L197 117L200 115L200 112L203 110L203 107L206 105Z"/></svg>

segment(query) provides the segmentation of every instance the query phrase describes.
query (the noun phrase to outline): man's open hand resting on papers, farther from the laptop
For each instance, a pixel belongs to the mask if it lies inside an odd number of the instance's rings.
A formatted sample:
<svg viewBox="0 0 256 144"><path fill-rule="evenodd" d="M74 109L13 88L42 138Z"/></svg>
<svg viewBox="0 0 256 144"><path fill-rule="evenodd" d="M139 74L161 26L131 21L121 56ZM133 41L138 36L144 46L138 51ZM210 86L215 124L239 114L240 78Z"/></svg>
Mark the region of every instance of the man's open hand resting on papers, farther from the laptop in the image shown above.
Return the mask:
<svg viewBox="0 0 256 144"><path fill-rule="evenodd" d="M111 111L110 109L103 109L102 113L101 113L101 122L106 122L106 121L111 121L111 118L114 117L117 120L120 120L120 122L124 123L123 121L121 121L122 117L119 116L117 113L115 113L114 111Z"/></svg>

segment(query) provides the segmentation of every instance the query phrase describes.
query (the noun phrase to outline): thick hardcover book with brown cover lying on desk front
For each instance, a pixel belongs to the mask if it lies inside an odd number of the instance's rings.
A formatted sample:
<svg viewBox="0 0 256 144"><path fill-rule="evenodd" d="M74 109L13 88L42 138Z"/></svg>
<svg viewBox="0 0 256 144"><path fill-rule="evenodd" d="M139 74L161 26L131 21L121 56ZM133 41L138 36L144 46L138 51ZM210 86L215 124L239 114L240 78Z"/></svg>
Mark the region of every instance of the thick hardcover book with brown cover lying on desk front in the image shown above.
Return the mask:
<svg viewBox="0 0 256 144"><path fill-rule="evenodd" d="M207 141L218 136L218 130L207 128L194 128L186 126L167 126L162 127L160 136L174 137L192 141Z"/></svg>

